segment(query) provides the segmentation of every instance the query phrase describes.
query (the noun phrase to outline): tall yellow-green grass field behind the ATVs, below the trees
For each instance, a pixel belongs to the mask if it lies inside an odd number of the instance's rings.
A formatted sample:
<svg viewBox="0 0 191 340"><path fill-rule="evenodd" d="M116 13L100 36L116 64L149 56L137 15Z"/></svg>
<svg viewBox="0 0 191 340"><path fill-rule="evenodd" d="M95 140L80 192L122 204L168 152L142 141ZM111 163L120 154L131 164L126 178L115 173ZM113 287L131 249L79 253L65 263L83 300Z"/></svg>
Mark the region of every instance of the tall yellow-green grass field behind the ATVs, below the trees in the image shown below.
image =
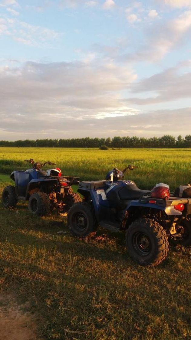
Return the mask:
<svg viewBox="0 0 191 340"><path fill-rule="evenodd" d="M24 159L34 158L41 163L51 160L61 168L63 175L76 175L81 180L101 180L113 167L125 168L131 179L142 189L150 189L158 182L168 183L174 190L191 181L191 149L75 149L75 148L0 148L0 173L13 169L25 170ZM46 167L47 168L47 167Z"/></svg>

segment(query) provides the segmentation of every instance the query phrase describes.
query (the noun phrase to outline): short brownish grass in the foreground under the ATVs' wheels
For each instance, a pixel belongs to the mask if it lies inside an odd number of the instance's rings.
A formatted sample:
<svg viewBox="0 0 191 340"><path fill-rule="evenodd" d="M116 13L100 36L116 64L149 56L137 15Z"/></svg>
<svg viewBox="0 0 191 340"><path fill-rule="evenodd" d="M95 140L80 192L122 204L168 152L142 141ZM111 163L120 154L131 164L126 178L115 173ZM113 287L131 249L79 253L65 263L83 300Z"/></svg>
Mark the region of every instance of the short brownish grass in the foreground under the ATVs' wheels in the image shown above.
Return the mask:
<svg viewBox="0 0 191 340"><path fill-rule="evenodd" d="M144 268L129 258L122 233L99 229L79 240L65 217L32 217L22 203L0 205L0 216L1 291L30 303L39 337L190 339L189 249L171 248L161 265Z"/></svg>

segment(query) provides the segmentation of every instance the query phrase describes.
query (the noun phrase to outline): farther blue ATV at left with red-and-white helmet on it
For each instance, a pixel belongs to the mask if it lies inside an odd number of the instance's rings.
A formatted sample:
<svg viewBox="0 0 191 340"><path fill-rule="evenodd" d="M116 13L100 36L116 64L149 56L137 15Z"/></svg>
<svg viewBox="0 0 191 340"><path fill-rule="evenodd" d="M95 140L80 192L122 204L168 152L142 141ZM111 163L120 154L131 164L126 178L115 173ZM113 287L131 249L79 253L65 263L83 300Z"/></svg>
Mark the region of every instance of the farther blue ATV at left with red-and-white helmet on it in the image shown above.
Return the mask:
<svg viewBox="0 0 191 340"><path fill-rule="evenodd" d="M26 160L32 168L22 171L14 170L11 179L15 186L8 185L2 193L2 204L5 208L14 208L18 201L28 201L28 209L33 215L45 216L56 210L68 212L71 206L81 202L79 194L74 193L72 184L78 184L78 177L61 176L59 168L43 170L43 167L55 165L52 162L43 164L31 158Z"/></svg>

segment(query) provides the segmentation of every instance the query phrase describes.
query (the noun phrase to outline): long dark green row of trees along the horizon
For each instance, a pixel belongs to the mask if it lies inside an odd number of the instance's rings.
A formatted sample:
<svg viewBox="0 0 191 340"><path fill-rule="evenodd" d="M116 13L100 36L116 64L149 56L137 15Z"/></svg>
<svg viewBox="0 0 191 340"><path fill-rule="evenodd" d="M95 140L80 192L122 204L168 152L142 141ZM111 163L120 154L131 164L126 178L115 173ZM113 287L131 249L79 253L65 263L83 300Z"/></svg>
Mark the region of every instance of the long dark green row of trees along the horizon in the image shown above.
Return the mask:
<svg viewBox="0 0 191 340"><path fill-rule="evenodd" d="M113 137L113 138L70 138L70 139L36 139L36 140L0 140L0 146L6 147L47 147L47 148L191 148L191 135L177 139L171 135L162 137Z"/></svg>

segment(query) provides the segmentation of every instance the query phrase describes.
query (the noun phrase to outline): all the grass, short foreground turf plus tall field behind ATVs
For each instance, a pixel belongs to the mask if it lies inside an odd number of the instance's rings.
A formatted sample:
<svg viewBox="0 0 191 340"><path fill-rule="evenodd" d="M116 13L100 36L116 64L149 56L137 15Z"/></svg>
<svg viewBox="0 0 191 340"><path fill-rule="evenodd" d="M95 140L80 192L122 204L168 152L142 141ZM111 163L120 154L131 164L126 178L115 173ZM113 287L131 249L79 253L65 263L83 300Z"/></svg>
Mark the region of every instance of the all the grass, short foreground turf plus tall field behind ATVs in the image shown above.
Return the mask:
<svg viewBox="0 0 191 340"><path fill-rule="evenodd" d="M126 177L142 188L190 181L188 149L0 151L5 173L24 169L22 160L32 157L56 161L64 173L83 179L134 163L139 168ZM9 181L0 175L0 193ZM91 239L76 239L65 217L32 217L23 203L10 210L0 204L0 216L1 293L28 302L24 311L34 315L41 339L190 339L188 248L171 247L161 265L144 268L130 259L123 233L100 228Z"/></svg>

